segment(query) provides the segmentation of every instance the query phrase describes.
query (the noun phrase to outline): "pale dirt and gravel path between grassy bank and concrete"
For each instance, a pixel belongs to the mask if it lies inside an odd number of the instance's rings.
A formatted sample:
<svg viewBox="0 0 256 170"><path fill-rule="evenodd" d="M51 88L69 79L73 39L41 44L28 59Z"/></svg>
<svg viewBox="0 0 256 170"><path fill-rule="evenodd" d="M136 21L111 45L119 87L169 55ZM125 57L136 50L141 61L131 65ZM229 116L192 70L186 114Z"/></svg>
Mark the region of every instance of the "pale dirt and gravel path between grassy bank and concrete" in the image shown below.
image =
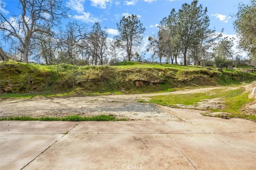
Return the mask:
<svg viewBox="0 0 256 170"><path fill-rule="evenodd" d="M1 101L0 117L64 117L67 115L114 115L130 120L178 120L179 117L156 104L138 103L138 100L149 100L149 96L187 94L208 92L220 87L186 89L157 94L129 94L110 96L85 96L71 98L33 98L31 100ZM186 110L190 112L191 110ZM200 111L198 111L200 112Z"/></svg>

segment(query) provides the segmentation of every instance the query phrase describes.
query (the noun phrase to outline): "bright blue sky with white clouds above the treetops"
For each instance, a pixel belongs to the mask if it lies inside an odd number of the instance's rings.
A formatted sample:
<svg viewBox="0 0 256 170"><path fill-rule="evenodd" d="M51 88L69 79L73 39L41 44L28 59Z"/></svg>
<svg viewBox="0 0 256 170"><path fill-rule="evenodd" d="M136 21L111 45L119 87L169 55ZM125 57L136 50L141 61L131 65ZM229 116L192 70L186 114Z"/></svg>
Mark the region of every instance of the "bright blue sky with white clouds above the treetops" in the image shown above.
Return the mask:
<svg viewBox="0 0 256 170"><path fill-rule="evenodd" d="M0 0L4 8L0 8L7 18L18 12L18 0ZM192 0L63 0L63 5L69 7L72 19L63 20L65 25L68 21L77 21L88 25L88 29L99 21L102 28L107 27L109 37L116 35L116 23L119 23L122 16L136 14L139 16L143 26L146 27L145 39L152 33L158 32L157 25L162 18L170 14L172 8L176 11L184 3L191 3ZM232 26L233 18L230 16L238 11L238 4L249 3L249 0L199 0L199 4L208 8L210 17L210 28L220 32L224 28L226 35L235 37Z"/></svg>

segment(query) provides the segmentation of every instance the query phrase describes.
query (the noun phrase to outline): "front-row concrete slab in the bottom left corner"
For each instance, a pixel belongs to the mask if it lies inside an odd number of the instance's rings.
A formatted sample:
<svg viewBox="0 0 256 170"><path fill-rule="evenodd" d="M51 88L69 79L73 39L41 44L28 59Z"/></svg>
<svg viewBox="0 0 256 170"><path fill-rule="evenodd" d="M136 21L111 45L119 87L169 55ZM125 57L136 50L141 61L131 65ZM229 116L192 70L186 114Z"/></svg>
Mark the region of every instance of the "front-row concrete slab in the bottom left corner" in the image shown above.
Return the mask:
<svg viewBox="0 0 256 170"><path fill-rule="evenodd" d="M62 135L0 134L0 170L19 170Z"/></svg>

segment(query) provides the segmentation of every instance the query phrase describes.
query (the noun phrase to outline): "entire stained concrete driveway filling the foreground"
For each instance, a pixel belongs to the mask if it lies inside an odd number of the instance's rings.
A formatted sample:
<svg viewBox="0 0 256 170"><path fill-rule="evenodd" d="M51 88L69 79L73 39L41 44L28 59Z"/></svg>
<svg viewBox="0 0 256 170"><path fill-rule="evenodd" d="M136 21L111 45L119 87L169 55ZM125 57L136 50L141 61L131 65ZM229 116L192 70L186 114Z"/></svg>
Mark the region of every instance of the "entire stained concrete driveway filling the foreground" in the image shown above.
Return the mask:
<svg viewBox="0 0 256 170"><path fill-rule="evenodd" d="M0 121L0 169L256 169L256 123L165 108L178 121Z"/></svg>

